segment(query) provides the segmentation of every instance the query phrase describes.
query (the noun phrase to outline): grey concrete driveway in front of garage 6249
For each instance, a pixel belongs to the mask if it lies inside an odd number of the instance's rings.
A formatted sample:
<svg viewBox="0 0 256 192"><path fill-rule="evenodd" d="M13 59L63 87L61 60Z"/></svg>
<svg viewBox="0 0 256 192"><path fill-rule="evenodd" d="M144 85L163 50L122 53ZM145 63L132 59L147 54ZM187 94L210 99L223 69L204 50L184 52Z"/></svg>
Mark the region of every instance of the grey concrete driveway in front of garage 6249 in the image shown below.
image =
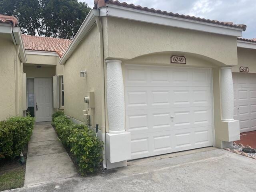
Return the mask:
<svg viewBox="0 0 256 192"><path fill-rule="evenodd" d="M15 192L255 192L256 160L222 149L165 155L90 177L73 177ZM176 156L176 157L175 157Z"/></svg>

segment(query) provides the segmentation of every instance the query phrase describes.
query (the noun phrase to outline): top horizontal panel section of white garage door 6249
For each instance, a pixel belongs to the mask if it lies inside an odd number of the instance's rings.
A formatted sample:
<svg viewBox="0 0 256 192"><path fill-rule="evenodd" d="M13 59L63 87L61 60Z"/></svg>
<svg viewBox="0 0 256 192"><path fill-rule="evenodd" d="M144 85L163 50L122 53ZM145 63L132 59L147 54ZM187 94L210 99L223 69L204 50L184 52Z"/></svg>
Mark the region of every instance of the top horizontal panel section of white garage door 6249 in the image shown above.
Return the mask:
<svg viewBox="0 0 256 192"><path fill-rule="evenodd" d="M124 66L125 86L208 86L210 70L179 67Z"/></svg>

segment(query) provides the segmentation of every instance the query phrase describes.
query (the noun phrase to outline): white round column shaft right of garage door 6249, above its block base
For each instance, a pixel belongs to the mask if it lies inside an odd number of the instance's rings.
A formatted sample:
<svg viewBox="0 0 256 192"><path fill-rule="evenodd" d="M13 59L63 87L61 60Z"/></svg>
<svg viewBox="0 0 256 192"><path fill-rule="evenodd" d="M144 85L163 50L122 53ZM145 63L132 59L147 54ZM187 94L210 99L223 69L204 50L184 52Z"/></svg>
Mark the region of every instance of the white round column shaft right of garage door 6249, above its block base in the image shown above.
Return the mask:
<svg viewBox="0 0 256 192"><path fill-rule="evenodd" d="M221 68L222 121L234 121L234 89L231 67Z"/></svg>

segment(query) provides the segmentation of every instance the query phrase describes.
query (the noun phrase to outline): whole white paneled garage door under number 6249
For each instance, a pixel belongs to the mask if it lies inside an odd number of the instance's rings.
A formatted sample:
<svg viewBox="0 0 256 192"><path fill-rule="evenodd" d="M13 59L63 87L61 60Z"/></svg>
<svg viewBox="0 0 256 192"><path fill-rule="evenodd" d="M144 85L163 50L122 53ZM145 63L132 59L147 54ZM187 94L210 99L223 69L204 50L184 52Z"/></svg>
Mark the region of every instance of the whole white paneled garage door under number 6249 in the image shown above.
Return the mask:
<svg viewBox="0 0 256 192"><path fill-rule="evenodd" d="M210 69L124 68L132 159L212 146Z"/></svg>

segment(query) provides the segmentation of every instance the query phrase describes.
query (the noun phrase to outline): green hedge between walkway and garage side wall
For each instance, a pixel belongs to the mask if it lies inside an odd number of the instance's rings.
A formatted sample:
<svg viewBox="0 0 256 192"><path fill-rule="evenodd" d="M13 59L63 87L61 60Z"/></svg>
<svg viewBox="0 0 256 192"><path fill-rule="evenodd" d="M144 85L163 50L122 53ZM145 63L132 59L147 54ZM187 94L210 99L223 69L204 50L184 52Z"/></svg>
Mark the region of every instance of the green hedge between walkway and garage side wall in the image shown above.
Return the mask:
<svg viewBox="0 0 256 192"><path fill-rule="evenodd" d="M74 124L64 114L55 115L53 125L62 144L70 149L81 175L96 172L102 162L103 142L93 130Z"/></svg>

